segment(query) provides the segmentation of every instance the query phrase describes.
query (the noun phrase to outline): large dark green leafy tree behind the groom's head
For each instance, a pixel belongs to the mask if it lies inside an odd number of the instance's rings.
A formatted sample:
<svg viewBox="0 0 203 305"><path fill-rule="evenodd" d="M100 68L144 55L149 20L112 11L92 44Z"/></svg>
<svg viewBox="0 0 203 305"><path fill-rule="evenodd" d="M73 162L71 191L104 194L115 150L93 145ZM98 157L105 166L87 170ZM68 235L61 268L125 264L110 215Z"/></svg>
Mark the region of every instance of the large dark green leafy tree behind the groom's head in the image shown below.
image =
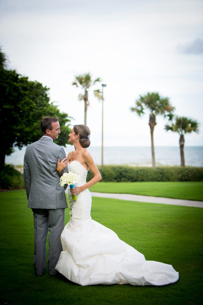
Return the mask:
<svg viewBox="0 0 203 305"><path fill-rule="evenodd" d="M61 135L56 143L68 143L70 117L67 113L60 113L50 102L48 90L37 81L29 81L15 70L5 70L1 66L0 129L4 143L0 150L0 170L5 155L10 155L14 146L22 148L41 137L40 119L44 116L59 117Z"/></svg>

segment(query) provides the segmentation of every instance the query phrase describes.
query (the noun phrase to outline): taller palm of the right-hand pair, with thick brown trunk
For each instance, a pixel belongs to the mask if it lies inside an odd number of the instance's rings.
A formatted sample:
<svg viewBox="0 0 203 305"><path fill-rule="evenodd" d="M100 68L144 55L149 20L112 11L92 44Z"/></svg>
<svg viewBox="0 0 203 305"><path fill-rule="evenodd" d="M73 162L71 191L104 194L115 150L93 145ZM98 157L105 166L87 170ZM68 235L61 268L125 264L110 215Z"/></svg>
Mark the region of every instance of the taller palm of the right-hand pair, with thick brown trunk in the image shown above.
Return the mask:
<svg viewBox="0 0 203 305"><path fill-rule="evenodd" d="M152 143L152 167L155 168L155 154L154 154L154 127L156 126L156 116L163 114L164 117L168 116L171 120L173 118L173 110L175 109L170 105L169 98L161 97L159 93L152 92L147 95L140 95L140 98L135 102L136 106L131 107L132 112L136 112L139 116L144 114L144 110L149 109L149 127L151 132L151 143Z"/></svg>

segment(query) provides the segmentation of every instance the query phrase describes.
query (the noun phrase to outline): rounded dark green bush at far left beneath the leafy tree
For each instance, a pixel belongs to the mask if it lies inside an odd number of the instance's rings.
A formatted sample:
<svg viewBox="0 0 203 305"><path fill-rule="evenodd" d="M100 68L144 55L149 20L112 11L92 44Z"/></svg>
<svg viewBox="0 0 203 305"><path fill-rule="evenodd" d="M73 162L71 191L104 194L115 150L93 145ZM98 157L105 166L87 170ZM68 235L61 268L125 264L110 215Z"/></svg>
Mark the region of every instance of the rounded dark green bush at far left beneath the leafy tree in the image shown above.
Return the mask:
<svg viewBox="0 0 203 305"><path fill-rule="evenodd" d="M11 165L5 165L0 172L0 189L22 189L25 188L23 174Z"/></svg>

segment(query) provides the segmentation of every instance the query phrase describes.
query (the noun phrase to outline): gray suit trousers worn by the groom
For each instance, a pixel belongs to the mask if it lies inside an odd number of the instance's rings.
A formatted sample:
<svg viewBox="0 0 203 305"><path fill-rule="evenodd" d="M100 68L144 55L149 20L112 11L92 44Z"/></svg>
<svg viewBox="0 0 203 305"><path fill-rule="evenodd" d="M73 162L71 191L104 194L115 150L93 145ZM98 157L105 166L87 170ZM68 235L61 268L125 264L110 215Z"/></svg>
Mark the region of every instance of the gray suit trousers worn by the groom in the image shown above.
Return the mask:
<svg viewBox="0 0 203 305"><path fill-rule="evenodd" d="M64 229L65 209L32 209L34 217L34 260L37 275L43 275L47 266L46 241L49 233L48 269L50 275L58 272L55 266L62 251L61 232Z"/></svg>

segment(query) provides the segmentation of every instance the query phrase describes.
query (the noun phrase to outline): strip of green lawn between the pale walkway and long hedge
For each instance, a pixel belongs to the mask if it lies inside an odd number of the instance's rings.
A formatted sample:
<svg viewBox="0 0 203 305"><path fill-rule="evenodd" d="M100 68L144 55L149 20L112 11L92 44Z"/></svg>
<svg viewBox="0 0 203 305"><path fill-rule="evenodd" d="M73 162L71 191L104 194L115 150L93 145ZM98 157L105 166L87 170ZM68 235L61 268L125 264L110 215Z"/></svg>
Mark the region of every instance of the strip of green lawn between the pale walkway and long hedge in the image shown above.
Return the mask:
<svg viewBox="0 0 203 305"><path fill-rule="evenodd" d="M99 182L89 190L203 201L203 182Z"/></svg>

